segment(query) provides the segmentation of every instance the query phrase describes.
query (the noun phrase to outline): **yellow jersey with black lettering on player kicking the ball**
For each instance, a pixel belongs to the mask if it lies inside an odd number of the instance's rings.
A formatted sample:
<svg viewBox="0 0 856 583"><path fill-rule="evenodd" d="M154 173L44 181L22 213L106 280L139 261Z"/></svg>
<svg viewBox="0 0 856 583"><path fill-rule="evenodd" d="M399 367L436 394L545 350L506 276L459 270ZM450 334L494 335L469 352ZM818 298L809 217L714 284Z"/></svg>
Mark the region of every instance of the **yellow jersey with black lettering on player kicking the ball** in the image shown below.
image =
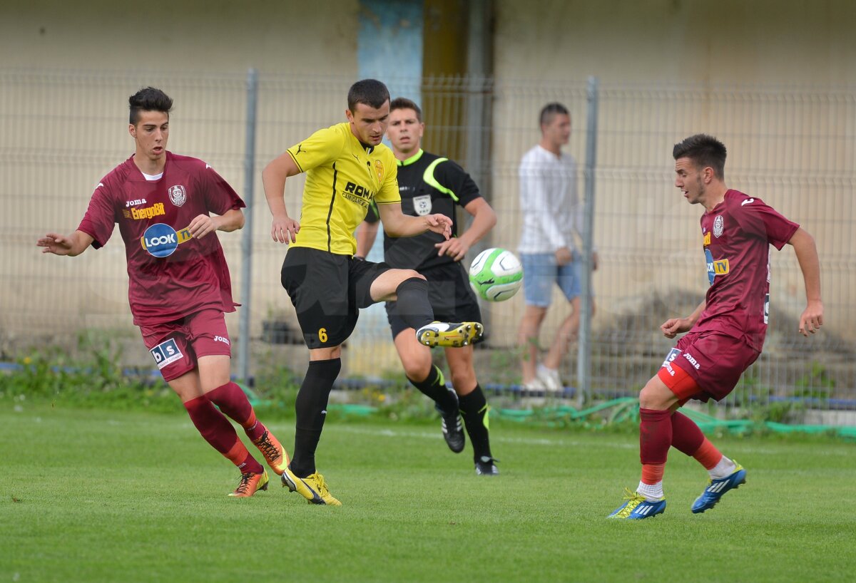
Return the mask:
<svg viewBox="0 0 856 583"><path fill-rule="evenodd" d="M401 202L392 150L384 144L363 147L347 122L318 130L287 151L306 172L295 247L354 255L354 230L372 200Z"/></svg>

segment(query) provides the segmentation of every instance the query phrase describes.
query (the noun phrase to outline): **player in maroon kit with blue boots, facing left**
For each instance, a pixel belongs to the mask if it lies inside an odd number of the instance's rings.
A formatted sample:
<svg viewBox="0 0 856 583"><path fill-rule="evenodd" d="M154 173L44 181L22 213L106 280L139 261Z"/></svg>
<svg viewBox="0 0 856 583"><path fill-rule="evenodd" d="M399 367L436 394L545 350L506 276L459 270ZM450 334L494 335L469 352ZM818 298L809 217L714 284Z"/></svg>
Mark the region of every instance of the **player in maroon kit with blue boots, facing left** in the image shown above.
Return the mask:
<svg viewBox="0 0 856 583"><path fill-rule="evenodd" d="M823 325L820 262L811 235L760 198L725 185L726 150L716 138L691 136L675 144L673 156L675 186L689 203L704 206L701 235L710 289L693 314L660 326L667 338L687 335L639 393L642 479L609 515L619 519L649 518L666 509L663 468L669 446L693 456L710 474L694 513L713 508L725 492L746 482L746 469L723 456L677 409L691 398L728 396L761 354L770 314L770 244L777 250L793 245L800 262L806 298L800 333L808 336Z"/></svg>

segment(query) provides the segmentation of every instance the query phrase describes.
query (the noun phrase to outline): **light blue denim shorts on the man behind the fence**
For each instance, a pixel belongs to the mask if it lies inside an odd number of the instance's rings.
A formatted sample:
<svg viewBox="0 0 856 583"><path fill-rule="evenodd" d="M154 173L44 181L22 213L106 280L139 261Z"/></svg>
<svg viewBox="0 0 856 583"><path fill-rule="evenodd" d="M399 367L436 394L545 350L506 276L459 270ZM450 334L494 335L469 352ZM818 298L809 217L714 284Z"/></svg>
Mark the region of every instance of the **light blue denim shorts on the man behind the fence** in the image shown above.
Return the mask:
<svg viewBox="0 0 856 583"><path fill-rule="evenodd" d="M574 261L567 265L556 265L553 253L521 253L523 263L523 293L526 305L546 308L553 297L553 284L559 286L570 302L582 293L582 262L580 253L574 250Z"/></svg>

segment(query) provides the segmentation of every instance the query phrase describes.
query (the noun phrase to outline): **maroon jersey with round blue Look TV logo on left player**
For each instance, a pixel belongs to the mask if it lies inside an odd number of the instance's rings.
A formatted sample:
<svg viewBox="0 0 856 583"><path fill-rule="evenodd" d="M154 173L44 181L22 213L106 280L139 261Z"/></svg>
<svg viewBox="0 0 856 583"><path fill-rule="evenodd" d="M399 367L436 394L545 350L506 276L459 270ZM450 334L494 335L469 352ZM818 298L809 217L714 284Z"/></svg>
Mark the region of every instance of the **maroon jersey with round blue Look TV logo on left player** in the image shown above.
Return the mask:
<svg viewBox="0 0 856 583"><path fill-rule="evenodd" d="M200 309L235 311L217 234L193 238L187 226L199 215L223 215L244 206L232 187L201 160L167 152L163 176L150 181L131 156L95 187L78 229L92 236L92 246L98 249L119 223L134 324L153 325Z"/></svg>

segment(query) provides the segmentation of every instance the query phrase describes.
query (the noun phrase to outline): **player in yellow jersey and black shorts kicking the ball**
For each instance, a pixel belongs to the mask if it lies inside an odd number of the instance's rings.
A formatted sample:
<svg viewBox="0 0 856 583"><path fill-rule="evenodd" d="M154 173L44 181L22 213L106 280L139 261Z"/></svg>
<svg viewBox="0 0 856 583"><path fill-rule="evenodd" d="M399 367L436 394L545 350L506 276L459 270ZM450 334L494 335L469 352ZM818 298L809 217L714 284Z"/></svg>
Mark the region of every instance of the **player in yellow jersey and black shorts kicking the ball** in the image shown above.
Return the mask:
<svg viewBox="0 0 856 583"><path fill-rule="evenodd" d="M348 122L318 130L288 148L262 172L273 222L270 236L291 244L282 263L303 339L309 368L294 409L294 456L282 474L283 486L310 504L341 503L330 494L315 468L315 450L324 428L330 390L342 368L342 342L354 331L360 308L395 300L398 315L428 346L463 346L479 339L479 322L437 322L425 277L413 269L354 259L354 230L369 204L379 209L383 229L394 237L432 231L449 238L445 215L401 213L395 156L381 144L389 121L389 91L375 79L348 91ZM306 172L300 221L288 216L285 180Z"/></svg>

